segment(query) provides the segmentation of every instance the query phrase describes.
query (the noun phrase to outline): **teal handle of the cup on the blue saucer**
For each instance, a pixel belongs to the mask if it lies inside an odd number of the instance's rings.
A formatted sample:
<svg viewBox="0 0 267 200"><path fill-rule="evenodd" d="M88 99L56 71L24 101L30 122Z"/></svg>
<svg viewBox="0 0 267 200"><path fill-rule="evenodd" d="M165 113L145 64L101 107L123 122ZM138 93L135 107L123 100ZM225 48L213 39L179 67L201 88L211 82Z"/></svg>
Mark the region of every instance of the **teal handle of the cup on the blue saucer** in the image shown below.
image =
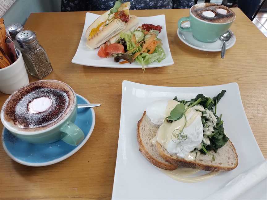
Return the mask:
<svg viewBox="0 0 267 200"><path fill-rule="evenodd" d="M64 133L61 140L72 146L77 146L84 139L83 131L70 121L64 123L60 131Z"/></svg>

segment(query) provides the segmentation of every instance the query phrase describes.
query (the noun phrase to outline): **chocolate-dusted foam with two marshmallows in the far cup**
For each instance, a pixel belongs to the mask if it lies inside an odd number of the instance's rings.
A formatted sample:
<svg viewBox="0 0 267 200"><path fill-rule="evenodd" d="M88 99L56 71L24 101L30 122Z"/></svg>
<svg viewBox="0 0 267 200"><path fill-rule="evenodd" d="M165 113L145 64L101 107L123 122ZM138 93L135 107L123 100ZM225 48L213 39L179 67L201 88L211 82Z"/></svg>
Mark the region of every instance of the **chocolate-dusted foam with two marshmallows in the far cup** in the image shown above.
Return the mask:
<svg viewBox="0 0 267 200"><path fill-rule="evenodd" d="M216 3L196 4L191 8L191 12L198 19L212 23L229 23L235 19L235 13L231 9ZM214 15L211 15L211 12Z"/></svg>

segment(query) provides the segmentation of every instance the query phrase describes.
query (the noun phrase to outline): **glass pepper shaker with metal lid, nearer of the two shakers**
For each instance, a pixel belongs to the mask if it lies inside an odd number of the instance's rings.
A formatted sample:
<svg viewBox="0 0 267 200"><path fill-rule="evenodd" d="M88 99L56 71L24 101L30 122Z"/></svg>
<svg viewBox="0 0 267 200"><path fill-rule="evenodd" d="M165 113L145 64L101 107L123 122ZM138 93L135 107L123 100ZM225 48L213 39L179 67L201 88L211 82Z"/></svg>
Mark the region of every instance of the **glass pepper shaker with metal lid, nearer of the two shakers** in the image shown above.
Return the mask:
<svg viewBox="0 0 267 200"><path fill-rule="evenodd" d="M52 65L33 31L21 31L16 35L28 72L39 79L53 71Z"/></svg>

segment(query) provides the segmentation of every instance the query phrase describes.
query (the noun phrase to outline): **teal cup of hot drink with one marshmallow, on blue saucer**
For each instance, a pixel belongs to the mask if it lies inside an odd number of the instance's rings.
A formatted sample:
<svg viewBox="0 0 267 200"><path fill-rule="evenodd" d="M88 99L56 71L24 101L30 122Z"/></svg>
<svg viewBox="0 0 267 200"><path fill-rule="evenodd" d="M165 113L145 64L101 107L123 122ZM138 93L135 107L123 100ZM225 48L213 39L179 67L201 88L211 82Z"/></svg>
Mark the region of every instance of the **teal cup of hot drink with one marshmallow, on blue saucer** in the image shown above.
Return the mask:
<svg viewBox="0 0 267 200"><path fill-rule="evenodd" d="M36 99L39 100L34 102ZM47 109L40 110L44 106ZM74 90L56 80L36 81L23 86L10 95L1 109L1 121L6 129L19 139L34 144L62 140L78 145L84 139L84 133L74 124L76 116Z"/></svg>

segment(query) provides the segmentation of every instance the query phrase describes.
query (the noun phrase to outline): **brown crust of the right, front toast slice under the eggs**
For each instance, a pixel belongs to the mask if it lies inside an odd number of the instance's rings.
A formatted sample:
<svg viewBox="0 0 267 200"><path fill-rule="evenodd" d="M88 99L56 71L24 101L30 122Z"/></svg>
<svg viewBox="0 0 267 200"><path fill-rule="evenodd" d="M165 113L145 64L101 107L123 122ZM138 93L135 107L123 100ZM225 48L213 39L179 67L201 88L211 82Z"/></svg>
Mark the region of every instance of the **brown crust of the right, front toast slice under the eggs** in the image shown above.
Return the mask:
<svg viewBox="0 0 267 200"><path fill-rule="evenodd" d="M163 157L169 163L172 163L174 165L180 165L181 167L197 168L197 169L202 169L205 171L223 172L223 171L233 170L238 165L238 158L237 158L237 153L236 153L235 147L230 140L228 142L230 143L231 148L234 150L235 156L236 156L236 164L232 167L222 167L219 165L208 165L208 164L204 165L204 164L201 164L200 162L197 162L195 160L184 160L183 158L179 158L177 156L170 156L169 154L167 154L164 151L165 148L161 144L156 142L156 145L157 145L157 149L159 151L159 155L161 157Z"/></svg>

